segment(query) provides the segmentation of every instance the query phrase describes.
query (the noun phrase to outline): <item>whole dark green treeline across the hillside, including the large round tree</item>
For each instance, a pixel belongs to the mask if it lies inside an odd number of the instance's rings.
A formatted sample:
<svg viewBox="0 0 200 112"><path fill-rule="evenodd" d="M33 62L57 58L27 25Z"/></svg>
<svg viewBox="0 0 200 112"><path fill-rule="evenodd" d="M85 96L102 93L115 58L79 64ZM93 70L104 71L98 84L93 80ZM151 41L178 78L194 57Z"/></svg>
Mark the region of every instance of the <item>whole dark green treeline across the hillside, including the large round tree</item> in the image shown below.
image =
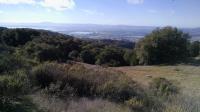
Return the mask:
<svg viewBox="0 0 200 112"><path fill-rule="evenodd" d="M180 63L198 56L200 42L191 42L188 34L172 27L155 29L136 44L81 40L45 30L1 27L0 50L36 63L73 60L105 66L155 65Z"/></svg>

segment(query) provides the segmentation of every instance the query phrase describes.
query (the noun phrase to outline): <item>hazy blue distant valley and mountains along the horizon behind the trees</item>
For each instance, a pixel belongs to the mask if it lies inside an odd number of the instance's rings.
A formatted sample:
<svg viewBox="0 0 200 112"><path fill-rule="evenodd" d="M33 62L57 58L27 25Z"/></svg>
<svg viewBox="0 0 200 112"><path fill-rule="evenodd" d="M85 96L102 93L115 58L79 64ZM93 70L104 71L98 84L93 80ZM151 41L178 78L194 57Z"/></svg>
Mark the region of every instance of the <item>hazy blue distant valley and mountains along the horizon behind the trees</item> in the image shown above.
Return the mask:
<svg viewBox="0 0 200 112"><path fill-rule="evenodd" d="M34 28L57 31L78 38L130 40L149 34L156 26L98 25L98 24L59 24L59 23L0 23L9 28ZM192 40L200 40L200 28L180 28L189 33Z"/></svg>

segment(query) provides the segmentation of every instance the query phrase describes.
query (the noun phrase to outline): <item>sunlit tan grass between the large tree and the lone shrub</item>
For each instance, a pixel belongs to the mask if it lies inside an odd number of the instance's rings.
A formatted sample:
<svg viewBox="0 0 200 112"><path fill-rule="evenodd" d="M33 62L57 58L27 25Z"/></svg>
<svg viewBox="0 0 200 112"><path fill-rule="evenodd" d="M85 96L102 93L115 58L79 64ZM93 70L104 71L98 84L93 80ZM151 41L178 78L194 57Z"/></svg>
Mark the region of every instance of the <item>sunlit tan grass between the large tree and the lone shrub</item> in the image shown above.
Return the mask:
<svg viewBox="0 0 200 112"><path fill-rule="evenodd" d="M135 66L117 67L112 69L124 72L144 87L147 87L152 78L156 77L173 80L181 88L183 94L200 99L199 66Z"/></svg>

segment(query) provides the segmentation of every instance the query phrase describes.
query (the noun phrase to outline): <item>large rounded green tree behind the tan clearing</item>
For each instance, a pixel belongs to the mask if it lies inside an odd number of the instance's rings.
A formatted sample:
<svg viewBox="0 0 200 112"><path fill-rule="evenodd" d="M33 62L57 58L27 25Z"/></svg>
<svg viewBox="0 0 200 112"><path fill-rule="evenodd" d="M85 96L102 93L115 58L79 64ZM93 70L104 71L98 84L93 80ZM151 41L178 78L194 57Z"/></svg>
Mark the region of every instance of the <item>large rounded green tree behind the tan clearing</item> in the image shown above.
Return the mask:
<svg viewBox="0 0 200 112"><path fill-rule="evenodd" d="M139 64L172 64L188 56L190 36L177 28L156 29L136 45Z"/></svg>

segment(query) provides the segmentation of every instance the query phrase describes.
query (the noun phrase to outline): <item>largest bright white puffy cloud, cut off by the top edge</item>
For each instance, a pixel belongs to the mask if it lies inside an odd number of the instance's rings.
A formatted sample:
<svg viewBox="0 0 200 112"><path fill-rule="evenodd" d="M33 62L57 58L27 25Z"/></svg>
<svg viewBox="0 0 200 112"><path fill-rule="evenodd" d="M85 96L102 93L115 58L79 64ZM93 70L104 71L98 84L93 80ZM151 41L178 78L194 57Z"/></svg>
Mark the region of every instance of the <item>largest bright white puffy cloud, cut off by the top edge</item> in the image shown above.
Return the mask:
<svg viewBox="0 0 200 112"><path fill-rule="evenodd" d="M62 11L74 8L75 2L74 0L44 0L40 2L40 5Z"/></svg>

